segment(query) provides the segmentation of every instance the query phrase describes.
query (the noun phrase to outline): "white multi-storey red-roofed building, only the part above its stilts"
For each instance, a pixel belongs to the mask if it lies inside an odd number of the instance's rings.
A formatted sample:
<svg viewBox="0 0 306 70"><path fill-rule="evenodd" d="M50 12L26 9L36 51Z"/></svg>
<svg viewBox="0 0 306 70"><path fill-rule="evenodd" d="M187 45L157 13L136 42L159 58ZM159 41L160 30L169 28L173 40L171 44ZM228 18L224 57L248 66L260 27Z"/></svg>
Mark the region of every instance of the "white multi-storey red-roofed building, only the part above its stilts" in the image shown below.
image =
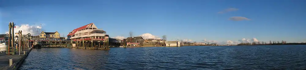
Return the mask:
<svg viewBox="0 0 306 70"><path fill-rule="evenodd" d="M106 31L98 29L94 23L91 23L69 32L67 39L73 41L82 41L83 39L85 41L104 41L105 38L108 38L105 36L108 36L106 35Z"/></svg>

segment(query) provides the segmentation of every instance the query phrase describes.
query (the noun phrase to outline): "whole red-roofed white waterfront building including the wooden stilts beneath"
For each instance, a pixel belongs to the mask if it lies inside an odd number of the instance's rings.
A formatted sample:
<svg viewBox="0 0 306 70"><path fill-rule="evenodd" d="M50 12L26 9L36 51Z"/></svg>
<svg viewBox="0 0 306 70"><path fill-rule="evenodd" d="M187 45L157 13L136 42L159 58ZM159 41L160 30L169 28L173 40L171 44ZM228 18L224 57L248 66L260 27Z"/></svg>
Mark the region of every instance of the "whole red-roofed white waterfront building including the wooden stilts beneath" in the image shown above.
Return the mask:
<svg viewBox="0 0 306 70"><path fill-rule="evenodd" d="M97 28L94 23L87 24L69 32L67 39L73 48L110 50L109 35L103 29Z"/></svg>

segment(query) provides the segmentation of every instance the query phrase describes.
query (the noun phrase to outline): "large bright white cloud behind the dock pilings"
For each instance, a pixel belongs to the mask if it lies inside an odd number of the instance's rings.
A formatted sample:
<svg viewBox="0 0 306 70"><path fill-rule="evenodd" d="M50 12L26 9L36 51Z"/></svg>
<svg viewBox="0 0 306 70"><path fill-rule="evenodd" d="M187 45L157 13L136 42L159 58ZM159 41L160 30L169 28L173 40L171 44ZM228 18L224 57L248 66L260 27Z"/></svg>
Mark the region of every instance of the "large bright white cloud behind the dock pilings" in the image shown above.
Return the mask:
<svg viewBox="0 0 306 70"><path fill-rule="evenodd" d="M17 33L19 30L22 31L22 34L28 34L30 33L31 35L39 35L40 29L42 27L37 26L37 25L29 25L29 24L21 24L21 26L15 25L16 28L14 28L14 33ZM5 33L9 33L9 31L6 31ZM16 34L14 34L17 36Z"/></svg>

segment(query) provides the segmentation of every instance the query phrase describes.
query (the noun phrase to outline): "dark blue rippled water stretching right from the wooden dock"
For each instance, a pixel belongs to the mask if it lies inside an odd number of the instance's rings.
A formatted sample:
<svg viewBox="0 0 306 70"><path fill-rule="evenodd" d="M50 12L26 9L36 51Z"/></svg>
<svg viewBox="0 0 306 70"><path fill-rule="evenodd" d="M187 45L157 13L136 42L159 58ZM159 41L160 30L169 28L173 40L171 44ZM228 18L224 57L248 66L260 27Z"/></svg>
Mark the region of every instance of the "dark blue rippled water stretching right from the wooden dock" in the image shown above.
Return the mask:
<svg viewBox="0 0 306 70"><path fill-rule="evenodd" d="M306 69L306 45L33 49L21 70Z"/></svg>

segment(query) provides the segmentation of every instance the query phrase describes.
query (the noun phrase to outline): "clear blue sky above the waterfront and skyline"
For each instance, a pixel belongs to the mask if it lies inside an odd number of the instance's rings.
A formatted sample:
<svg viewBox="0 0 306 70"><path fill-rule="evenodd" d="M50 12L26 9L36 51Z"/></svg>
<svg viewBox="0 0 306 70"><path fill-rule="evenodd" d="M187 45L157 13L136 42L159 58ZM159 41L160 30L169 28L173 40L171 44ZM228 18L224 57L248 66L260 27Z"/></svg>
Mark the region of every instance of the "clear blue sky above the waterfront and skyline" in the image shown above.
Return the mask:
<svg viewBox="0 0 306 70"><path fill-rule="evenodd" d="M111 37L132 31L198 42L306 41L305 0L5 0L0 14L1 34L9 22L43 23L61 35L95 23Z"/></svg>

